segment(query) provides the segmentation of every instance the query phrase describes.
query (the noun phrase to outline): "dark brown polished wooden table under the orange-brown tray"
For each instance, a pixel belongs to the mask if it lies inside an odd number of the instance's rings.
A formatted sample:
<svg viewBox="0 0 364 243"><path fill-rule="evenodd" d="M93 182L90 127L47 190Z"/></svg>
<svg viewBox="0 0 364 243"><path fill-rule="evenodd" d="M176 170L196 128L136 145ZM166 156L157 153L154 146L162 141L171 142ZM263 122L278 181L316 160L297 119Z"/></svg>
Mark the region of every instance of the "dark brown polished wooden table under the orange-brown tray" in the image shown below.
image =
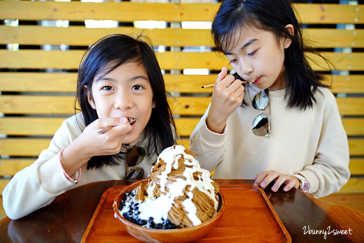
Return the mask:
<svg viewBox="0 0 364 243"><path fill-rule="evenodd" d="M47 207L21 219L4 217L0 220L0 242L80 242L102 194L112 186L128 185L134 181L103 181L83 185L57 196ZM254 182L215 181L218 184L250 185ZM280 188L272 192L272 185L264 192L288 230L292 242L364 242L363 213L321 201L296 189L284 192ZM325 239L323 232L313 234L312 230L316 229L330 234ZM336 230L347 230L347 234L335 234Z"/></svg>

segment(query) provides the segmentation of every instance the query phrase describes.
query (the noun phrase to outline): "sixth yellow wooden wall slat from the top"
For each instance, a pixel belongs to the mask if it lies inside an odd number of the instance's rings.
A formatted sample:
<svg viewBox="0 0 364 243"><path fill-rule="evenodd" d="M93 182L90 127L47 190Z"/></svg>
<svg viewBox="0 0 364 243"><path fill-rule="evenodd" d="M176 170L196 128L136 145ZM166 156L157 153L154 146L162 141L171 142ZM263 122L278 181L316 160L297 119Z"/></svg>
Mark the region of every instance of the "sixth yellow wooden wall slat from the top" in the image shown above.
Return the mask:
<svg viewBox="0 0 364 243"><path fill-rule="evenodd" d="M0 134L8 136L53 136L67 118L59 117L0 117ZM175 119L177 134L190 136L199 118ZM364 118L342 118L348 136L364 135Z"/></svg>

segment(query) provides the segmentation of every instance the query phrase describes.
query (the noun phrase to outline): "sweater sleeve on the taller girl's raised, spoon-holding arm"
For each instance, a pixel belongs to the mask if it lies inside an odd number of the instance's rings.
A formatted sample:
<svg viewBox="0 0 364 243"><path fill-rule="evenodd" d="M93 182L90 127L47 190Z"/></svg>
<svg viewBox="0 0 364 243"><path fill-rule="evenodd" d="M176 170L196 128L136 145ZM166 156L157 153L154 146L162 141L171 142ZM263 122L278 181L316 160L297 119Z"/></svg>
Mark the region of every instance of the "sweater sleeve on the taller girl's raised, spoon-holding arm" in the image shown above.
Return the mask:
<svg viewBox="0 0 364 243"><path fill-rule="evenodd" d="M222 134L210 131L206 125L209 109L210 106L192 132L189 148L196 154L202 168L213 171L225 157L227 125Z"/></svg>

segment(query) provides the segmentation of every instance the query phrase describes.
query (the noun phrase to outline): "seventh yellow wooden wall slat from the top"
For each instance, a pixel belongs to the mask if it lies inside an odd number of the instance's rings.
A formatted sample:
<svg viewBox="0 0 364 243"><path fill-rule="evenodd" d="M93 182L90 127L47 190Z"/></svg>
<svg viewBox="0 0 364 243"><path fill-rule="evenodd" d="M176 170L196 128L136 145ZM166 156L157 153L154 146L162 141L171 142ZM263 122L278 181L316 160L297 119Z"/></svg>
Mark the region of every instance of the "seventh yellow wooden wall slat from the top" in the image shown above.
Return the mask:
<svg viewBox="0 0 364 243"><path fill-rule="evenodd" d="M0 139L0 154L10 156L38 156L40 152L49 147L51 139L47 138L7 138ZM349 151L352 156L364 155L364 139L349 138ZM188 148L189 139L181 138L178 144Z"/></svg>

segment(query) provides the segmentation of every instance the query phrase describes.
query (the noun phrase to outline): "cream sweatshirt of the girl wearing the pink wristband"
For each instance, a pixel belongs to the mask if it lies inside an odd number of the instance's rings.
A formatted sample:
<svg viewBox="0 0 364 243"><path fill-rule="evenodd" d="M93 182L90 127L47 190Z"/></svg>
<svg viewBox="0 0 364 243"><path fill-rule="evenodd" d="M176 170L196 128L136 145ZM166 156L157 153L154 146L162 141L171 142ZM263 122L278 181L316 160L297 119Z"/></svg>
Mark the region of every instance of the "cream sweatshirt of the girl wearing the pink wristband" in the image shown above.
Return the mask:
<svg viewBox="0 0 364 243"><path fill-rule="evenodd" d="M58 160L61 150L68 147L73 140L82 134L76 119L79 120L82 131L84 120L82 113L72 116L62 123L55 133L48 149L43 150L39 158L25 169L14 175L3 191L3 206L7 216L19 219L29 213L50 204L54 198L67 190L96 181L121 180L125 178L125 162L119 166L103 167L101 170L86 170L86 165L81 167L82 175L77 184L74 184L64 175ZM139 136L139 138L141 138ZM137 143L137 139L134 145ZM148 138L138 146L147 147ZM149 177L152 164L157 161L157 154L146 156L138 167L144 169L144 178ZM72 175L78 178L78 172Z"/></svg>

